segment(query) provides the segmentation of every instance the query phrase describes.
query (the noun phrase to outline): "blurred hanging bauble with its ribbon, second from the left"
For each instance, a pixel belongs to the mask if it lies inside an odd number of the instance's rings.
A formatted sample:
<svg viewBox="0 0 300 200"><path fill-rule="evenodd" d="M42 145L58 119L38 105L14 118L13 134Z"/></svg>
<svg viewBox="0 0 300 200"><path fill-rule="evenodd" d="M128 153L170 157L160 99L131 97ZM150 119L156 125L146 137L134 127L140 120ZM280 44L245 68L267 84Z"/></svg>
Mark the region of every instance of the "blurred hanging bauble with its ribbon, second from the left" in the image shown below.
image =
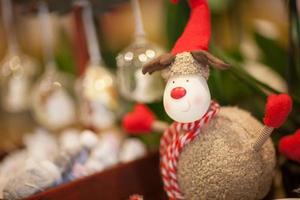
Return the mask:
<svg viewBox="0 0 300 200"><path fill-rule="evenodd" d="M66 77L57 71L51 44L51 25L45 3L39 4L39 18L43 29L45 72L33 91L33 113L36 120L49 129L61 129L75 122L76 110L65 83Z"/></svg>

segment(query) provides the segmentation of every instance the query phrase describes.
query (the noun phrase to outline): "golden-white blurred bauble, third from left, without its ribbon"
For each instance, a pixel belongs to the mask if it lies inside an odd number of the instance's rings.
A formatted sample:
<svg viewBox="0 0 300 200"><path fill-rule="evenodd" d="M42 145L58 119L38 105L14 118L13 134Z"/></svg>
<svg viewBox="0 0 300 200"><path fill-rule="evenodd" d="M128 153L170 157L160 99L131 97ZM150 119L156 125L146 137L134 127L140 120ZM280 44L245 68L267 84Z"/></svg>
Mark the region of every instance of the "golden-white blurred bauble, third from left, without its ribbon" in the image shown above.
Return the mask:
<svg viewBox="0 0 300 200"><path fill-rule="evenodd" d="M76 90L84 126L103 130L115 124L118 95L113 74L102 65L89 65Z"/></svg>

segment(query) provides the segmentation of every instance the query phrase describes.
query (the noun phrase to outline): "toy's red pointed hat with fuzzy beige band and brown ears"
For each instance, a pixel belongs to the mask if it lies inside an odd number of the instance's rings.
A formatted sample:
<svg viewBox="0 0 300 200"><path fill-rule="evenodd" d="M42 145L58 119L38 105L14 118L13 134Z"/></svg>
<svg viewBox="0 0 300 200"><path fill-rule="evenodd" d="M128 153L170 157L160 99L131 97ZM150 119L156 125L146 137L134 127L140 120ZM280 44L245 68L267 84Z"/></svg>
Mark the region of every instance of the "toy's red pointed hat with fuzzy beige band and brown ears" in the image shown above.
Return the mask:
<svg viewBox="0 0 300 200"><path fill-rule="evenodd" d="M178 0L171 0L177 3ZM190 18L171 53L153 59L143 67L143 73L169 68L170 78L175 75L199 74L208 79L209 65L227 69L228 64L211 55L208 45L211 36L210 11L207 0L188 0ZM196 62L195 62L196 61Z"/></svg>

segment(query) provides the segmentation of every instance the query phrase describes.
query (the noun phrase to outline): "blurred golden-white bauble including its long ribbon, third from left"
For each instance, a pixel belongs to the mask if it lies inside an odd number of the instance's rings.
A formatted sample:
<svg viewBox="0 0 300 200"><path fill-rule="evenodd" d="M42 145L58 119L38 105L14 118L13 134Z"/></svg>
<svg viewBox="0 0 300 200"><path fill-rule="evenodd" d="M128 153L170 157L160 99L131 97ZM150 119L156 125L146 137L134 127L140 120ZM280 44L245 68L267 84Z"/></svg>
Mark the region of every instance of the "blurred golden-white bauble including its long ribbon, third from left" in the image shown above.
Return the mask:
<svg viewBox="0 0 300 200"><path fill-rule="evenodd" d="M90 3L78 0L75 6L83 8L82 19L89 54L88 65L76 85L80 99L80 120L86 127L96 130L111 128L118 110L115 77L103 63Z"/></svg>

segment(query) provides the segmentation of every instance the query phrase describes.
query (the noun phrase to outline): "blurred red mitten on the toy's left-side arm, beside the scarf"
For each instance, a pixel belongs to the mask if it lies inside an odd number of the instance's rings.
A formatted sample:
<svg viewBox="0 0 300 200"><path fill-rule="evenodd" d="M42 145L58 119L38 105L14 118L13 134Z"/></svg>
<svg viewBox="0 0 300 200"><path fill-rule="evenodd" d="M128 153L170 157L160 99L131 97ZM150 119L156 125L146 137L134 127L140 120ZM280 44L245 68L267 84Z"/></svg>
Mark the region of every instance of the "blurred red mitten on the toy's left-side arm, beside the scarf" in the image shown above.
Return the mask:
<svg viewBox="0 0 300 200"><path fill-rule="evenodd" d="M122 126L126 132L136 135L150 132L154 120L155 115L147 106L136 104L134 110L124 116Z"/></svg>

